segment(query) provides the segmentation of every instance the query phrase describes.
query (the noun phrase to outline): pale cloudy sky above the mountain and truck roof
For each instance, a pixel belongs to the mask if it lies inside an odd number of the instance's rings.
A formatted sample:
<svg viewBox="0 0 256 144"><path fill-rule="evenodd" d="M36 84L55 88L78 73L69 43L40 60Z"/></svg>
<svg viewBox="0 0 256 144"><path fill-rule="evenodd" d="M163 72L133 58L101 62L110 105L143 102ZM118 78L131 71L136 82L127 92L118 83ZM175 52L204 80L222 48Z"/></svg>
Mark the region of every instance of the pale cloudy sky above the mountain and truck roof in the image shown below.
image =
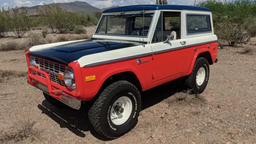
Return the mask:
<svg viewBox="0 0 256 144"><path fill-rule="evenodd" d="M4 7L15 8L22 6L36 6L57 2L74 2L76 0L0 0L1 9ZM143 4L143 0L78 0L82 2L87 2L88 4L96 7L96 8L108 8L111 6L128 6L135 4ZM194 4L194 0L167 0L168 4L182 4L182 5L192 5ZM156 0L144 0L144 4L155 4Z"/></svg>

